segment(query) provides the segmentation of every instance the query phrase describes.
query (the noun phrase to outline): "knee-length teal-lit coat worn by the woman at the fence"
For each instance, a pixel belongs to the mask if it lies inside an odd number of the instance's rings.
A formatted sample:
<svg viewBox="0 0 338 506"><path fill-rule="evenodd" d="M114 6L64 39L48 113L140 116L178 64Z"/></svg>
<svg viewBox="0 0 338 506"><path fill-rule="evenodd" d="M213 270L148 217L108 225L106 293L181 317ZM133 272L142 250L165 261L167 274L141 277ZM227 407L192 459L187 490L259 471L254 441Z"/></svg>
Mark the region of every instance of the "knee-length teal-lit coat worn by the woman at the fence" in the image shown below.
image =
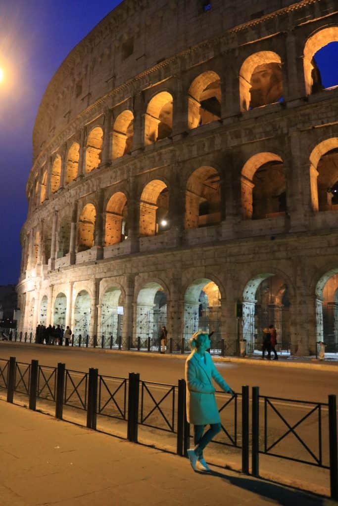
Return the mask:
<svg viewBox="0 0 338 506"><path fill-rule="evenodd" d="M206 363L193 351L185 362L186 417L193 425L220 423L212 378L224 392L231 392L231 388L217 371L209 353L206 353L205 357Z"/></svg>

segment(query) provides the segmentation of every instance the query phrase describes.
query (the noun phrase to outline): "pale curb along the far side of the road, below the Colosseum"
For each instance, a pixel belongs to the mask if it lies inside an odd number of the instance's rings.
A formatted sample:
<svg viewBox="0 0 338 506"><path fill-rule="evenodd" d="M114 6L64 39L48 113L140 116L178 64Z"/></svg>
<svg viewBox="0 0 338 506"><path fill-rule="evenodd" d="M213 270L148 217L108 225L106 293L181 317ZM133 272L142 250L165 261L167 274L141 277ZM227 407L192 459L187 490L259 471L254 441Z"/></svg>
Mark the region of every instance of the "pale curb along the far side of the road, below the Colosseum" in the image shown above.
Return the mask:
<svg viewBox="0 0 338 506"><path fill-rule="evenodd" d="M11 346L26 346L30 348L46 348L46 345L40 345L35 343L20 343L13 341L0 341L0 343L10 344ZM1 345L0 345L1 346ZM55 351L58 351L58 346L54 346ZM178 360L186 360L187 354L160 354L156 352L142 352L142 351L127 351L127 350L110 350L104 348L82 348L82 347L65 347L62 346L62 351L69 350L80 350L83 352L91 352L91 353L118 353L119 355L129 355L129 356L137 356L137 357L152 357L154 359L178 359ZM309 370L322 370L327 372L338 372L338 360L337 362L320 362L317 359L306 359L306 362L297 362L297 359L282 359L280 358L278 361L272 360L261 360L260 358L245 358L245 357L212 357L214 362L224 362L224 363L232 363L232 364L250 364L250 365L258 365L259 367L281 367L281 368L290 368L294 367L297 369L309 369ZM304 359L303 359L304 360Z"/></svg>

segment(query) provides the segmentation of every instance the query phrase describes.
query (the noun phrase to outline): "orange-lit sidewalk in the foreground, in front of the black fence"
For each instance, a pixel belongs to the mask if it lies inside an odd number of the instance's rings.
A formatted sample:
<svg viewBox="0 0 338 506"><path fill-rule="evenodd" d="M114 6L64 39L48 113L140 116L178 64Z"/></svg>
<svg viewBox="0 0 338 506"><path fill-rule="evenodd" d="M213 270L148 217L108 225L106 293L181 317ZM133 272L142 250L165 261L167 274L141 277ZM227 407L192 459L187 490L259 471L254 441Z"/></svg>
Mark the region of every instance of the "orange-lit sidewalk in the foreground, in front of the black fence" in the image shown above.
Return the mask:
<svg viewBox="0 0 338 506"><path fill-rule="evenodd" d="M1 506L328 506L330 499L94 432L0 400Z"/></svg>

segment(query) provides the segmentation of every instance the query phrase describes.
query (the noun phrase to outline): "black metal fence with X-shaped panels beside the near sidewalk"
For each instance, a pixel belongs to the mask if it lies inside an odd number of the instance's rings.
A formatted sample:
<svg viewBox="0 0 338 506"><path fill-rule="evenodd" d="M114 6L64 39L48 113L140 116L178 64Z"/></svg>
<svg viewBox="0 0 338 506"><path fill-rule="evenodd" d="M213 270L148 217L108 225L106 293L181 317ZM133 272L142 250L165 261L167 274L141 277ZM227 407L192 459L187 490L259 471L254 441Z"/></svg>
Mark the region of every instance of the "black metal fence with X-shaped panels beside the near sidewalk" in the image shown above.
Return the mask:
<svg viewBox="0 0 338 506"><path fill-rule="evenodd" d="M30 364L0 359L0 389L7 390L7 401L15 395L55 403L55 416L63 418L63 407L85 411L87 427L96 430L97 416L127 423L127 438L138 442L138 426L175 435L176 452L185 456L190 447L190 425L186 421L184 379L178 385L141 381L137 373L129 377ZM242 472L259 476L259 455L291 460L329 471L330 492L338 499L338 445L336 397L328 402L308 402L259 395L258 387L243 386L241 394L216 392L222 431L213 441L241 450ZM251 423L249 405L251 401ZM239 409L239 405L241 409ZM297 409L290 409L290 406ZM314 431L315 428L315 431ZM292 438L292 440L290 439ZM251 443L251 444L250 444ZM298 445L296 448L295 445ZM271 468L273 468L273 462Z"/></svg>

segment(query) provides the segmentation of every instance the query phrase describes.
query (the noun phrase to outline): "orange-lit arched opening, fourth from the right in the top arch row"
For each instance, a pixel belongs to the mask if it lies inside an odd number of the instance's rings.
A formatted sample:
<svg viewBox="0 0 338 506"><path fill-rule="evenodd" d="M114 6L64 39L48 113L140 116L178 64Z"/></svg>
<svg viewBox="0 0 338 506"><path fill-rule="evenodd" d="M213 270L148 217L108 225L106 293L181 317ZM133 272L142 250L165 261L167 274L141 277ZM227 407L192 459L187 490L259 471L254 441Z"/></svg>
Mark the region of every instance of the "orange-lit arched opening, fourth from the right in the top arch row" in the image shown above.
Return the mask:
<svg viewBox="0 0 338 506"><path fill-rule="evenodd" d="M168 92L158 93L148 103L144 115L145 146L171 136L172 103L172 96Z"/></svg>

